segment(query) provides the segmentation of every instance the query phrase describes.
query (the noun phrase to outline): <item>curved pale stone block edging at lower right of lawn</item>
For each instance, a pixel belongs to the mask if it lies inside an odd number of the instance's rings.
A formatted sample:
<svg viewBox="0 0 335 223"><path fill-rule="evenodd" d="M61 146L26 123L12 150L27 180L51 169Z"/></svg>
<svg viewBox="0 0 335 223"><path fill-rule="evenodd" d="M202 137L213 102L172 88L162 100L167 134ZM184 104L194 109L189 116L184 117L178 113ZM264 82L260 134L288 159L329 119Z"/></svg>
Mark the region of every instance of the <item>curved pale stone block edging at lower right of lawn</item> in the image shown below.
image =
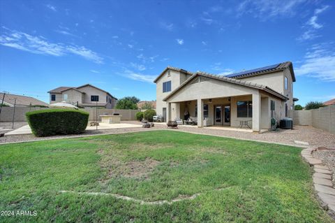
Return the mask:
<svg viewBox="0 0 335 223"><path fill-rule="evenodd" d="M315 159L312 156L315 150L318 148L304 149L301 151L301 156L314 168L313 183L320 205L335 220L335 189L332 183L332 171L322 164L320 159Z"/></svg>

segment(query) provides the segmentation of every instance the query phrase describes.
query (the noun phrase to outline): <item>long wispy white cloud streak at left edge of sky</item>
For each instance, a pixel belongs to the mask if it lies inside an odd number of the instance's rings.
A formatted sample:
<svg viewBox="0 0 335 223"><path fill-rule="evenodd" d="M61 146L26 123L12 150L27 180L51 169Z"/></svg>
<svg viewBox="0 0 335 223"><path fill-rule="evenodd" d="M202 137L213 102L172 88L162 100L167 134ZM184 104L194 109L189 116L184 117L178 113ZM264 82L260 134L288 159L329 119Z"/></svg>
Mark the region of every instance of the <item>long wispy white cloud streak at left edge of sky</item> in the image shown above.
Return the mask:
<svg viewBox="0 0 335 223"><path fill-rule="evenodd" d="M35 54L52 55L57 57L71 53L84 57L85 59L97 64L103 64L102 57L99 57L96 52L89 50L84 46L50 43L43 36L31 36L21 31L13 31L10 29L6 30L8 30L8 32L0 36L1 45Z"/></svg>

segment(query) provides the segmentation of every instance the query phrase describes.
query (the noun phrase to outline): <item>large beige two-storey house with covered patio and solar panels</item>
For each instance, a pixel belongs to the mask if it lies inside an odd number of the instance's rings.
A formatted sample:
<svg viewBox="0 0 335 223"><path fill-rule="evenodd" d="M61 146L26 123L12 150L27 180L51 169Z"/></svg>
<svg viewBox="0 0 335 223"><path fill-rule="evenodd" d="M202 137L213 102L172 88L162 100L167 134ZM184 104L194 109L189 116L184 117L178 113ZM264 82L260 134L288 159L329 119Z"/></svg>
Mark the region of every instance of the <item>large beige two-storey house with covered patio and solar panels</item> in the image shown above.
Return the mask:
<svg viewBox="0 0 335 223"><path fill-rule="evenodd" d="M188 115L198 127L204 123L239 127L241 121L249 121L253 131L260 131L271 128L271 117L281 120L294 109L291 62L230 75L168 66L154 82L156 112L165 121L185 120Z"/></svg>

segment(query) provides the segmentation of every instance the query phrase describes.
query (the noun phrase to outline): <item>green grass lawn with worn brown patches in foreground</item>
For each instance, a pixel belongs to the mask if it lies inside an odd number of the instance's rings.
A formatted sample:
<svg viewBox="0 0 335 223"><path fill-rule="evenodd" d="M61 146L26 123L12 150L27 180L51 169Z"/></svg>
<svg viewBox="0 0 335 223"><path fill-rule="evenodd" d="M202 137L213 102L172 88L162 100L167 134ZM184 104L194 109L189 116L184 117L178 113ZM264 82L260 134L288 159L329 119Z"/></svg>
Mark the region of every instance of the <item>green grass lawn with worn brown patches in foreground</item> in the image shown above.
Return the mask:
<svg viewBox="0 0 335 223"><path fill-rule="evenodd" d="M0 222L332 222L301 149L149 131L0 146ZM61 190L75 193L61 193ZM142 201L193 200L141 205Z"/></svg>

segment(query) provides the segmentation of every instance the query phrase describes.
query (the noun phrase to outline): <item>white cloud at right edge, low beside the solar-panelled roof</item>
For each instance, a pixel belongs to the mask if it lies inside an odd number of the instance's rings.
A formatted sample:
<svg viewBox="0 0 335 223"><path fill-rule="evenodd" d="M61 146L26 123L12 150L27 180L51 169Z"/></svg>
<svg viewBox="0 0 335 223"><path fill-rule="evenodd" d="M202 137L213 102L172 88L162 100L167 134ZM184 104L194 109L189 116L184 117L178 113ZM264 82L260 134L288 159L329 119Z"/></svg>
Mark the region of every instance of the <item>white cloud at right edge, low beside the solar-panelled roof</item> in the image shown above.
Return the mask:
<svg viewBox="0 0 335 223"><path fill-rule="evenodd" d="M335 81L334 43L313 45L304 57L301 65L295 68L297 75L308 75L325 81Z"/></svg>

